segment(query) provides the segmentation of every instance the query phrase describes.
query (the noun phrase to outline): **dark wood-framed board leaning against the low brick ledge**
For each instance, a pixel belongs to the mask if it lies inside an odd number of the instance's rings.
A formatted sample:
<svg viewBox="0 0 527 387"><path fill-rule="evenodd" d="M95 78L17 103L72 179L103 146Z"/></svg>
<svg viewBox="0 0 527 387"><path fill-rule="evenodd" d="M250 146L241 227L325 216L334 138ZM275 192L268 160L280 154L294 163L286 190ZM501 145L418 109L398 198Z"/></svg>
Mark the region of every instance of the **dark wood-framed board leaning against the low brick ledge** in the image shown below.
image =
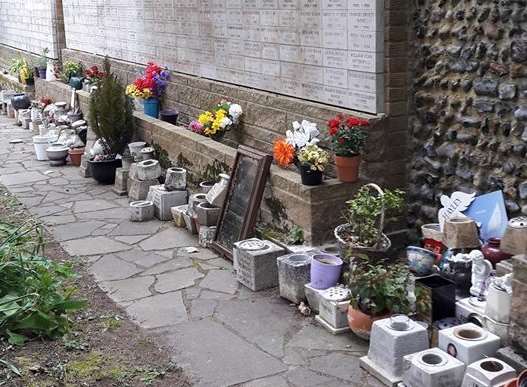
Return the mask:
<svg viewBox="0 0 527 387"><path fill-rule="evenodd" d="M213 249L232 259L234 243L254 233L271 156L243 145L238 147L223 203Z"/></svg>

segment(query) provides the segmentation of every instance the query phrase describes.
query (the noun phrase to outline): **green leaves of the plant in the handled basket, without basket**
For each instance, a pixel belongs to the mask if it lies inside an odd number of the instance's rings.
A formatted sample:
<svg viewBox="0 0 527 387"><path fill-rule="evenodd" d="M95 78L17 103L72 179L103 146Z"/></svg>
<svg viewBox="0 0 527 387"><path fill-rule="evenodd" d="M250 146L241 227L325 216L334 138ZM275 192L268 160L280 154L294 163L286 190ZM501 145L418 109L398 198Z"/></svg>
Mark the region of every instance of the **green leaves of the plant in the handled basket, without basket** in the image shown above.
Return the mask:
<svg viewBox="0 0 527 387"><path fill-rule="evenodd" d="M353 199L346 202L344 213L349 224L350 242L360 246L374 246L379 241L379 219L383 208L387 216L399 213L404 206L405 193L401 190L384 190L384 195L362 186Z"/></svg>

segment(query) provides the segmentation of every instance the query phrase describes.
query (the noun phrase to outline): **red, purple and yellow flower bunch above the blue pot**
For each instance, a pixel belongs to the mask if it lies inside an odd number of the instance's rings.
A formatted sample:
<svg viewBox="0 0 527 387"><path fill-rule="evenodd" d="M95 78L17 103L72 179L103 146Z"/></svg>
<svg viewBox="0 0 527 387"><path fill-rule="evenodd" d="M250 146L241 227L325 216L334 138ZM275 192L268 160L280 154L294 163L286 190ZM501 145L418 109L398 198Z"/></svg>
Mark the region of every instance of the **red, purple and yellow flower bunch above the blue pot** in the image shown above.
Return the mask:
<svg viewBox="0 0 527 387"><path fill-rule="evenodd" d="M126 95L138 99L159 99L166 90L170 72L154 62L148 62L145 73L126 86Z"/></svg>

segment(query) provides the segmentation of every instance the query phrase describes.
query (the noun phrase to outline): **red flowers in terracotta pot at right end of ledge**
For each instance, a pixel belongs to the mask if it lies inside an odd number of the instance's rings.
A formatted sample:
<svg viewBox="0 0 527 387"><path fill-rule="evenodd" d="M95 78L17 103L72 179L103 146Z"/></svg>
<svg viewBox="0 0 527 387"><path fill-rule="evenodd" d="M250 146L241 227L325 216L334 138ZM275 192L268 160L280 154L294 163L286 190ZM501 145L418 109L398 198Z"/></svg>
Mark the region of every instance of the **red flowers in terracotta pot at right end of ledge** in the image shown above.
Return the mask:
<svg viewBox="0 0 527 387"><path fill-rule="evenodd" d="M337 115L328 121L328 133L335 152L337 177L342 182L353 183L358 179L360 153L368 137L361 128L368 125L368 120L353 116Z"/></svg>

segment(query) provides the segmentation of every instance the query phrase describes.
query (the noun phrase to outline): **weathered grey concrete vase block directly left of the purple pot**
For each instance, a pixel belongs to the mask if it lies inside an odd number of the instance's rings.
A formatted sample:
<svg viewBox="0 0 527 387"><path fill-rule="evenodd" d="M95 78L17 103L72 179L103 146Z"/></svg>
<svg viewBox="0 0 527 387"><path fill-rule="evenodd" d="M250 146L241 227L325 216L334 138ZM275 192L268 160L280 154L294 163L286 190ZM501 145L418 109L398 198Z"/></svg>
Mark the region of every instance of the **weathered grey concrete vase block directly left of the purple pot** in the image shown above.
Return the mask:
<svg viewBox="0 0 527 387"><path fill-rule="evenodd" d="M287 254L277 258L280 296L299 304L305 299L304 285L309 283L311 256Z"/></svg>

